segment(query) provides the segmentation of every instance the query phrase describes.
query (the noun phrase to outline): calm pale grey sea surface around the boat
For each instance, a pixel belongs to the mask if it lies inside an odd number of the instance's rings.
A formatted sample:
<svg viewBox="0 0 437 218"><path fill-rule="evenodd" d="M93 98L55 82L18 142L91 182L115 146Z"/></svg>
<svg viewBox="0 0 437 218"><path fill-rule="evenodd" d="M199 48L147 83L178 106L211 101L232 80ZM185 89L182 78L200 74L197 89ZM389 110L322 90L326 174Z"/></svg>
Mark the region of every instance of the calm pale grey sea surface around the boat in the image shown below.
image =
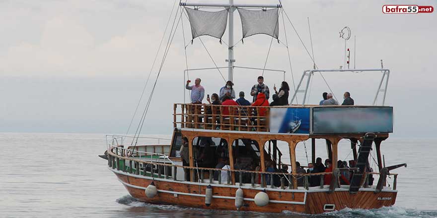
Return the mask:
<svg viewBox="0 0 437 218"><path fill-rule="evenodd" d="M274 217L435 218L436 144L436 139L389 139L383 143L386 165L408 163L407 168L393 170L399 173L394 207ZM107 162L97 157L105 150L103 134L0 133L0 148L0 218L273 217L138 202L106 168ZM317 156L324 158L323 145L320 150ZM351 159L349 151L348 143L342 142L339 158ZM303 146L297 154L297 160L305 164Z"/></svg>

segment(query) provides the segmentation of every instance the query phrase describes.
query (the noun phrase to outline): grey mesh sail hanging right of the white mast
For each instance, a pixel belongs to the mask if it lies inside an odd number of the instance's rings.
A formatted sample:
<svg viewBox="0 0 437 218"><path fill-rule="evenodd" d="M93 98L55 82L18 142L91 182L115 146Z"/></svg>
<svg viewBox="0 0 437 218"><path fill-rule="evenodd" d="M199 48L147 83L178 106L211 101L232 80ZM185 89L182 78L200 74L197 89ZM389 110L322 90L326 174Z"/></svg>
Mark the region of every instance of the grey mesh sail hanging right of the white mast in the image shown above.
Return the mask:
<svg viewBox="0 0 437 218"><path fill-rule="evenodd" d="M269 10L247 10L237 8L243 27L243 39L255 34L279 37L279 8Z"/></svg>

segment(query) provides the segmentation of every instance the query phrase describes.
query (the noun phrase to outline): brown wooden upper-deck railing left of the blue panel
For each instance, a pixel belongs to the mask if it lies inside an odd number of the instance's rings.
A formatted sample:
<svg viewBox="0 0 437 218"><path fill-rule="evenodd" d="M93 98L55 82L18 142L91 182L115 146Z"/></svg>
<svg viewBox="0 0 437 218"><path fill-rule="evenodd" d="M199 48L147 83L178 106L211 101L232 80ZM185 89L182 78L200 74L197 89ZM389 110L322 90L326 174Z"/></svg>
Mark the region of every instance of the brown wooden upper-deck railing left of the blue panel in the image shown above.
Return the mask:
<svg viewBox="0 0 437 218"><path fill-rule="evenodd" d="M268 132L269 114L270 107L174 104L173 126Z"/></svg>

